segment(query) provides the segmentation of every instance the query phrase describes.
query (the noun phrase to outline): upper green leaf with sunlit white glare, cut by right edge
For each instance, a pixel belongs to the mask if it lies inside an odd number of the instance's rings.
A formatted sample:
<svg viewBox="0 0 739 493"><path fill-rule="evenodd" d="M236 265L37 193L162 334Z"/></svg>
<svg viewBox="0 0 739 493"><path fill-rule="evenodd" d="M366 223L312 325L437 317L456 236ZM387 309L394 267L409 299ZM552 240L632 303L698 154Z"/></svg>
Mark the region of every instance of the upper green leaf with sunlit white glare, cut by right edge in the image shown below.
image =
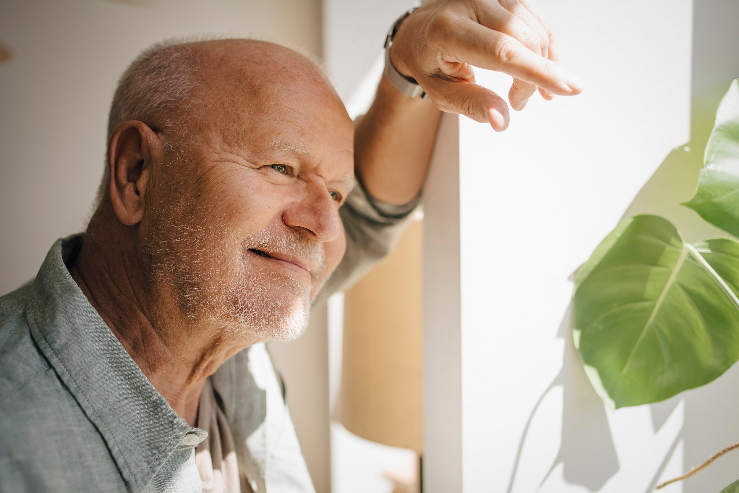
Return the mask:
<svg viewBox="0 0 739 493"><path fill-rule="evenodd" d="M739 79L718 106L695 196L683 205L739 236Z"/></svg>

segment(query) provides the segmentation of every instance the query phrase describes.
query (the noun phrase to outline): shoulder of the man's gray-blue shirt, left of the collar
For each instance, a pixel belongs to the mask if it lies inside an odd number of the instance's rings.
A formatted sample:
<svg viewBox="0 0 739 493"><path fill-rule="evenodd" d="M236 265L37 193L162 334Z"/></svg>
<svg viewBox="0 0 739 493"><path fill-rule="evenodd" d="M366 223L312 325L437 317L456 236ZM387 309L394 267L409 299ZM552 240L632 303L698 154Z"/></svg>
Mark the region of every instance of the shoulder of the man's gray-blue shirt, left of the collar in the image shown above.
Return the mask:
<svg viewBox="0 0 739 493"><path fill-rule="evenodd" d="M108 452L100 433L35 344L30 290L0 297L0 492L109 491L119 483L125 491L115 463L101 460ZM81 482L83 471L91 483Z"/></svg>

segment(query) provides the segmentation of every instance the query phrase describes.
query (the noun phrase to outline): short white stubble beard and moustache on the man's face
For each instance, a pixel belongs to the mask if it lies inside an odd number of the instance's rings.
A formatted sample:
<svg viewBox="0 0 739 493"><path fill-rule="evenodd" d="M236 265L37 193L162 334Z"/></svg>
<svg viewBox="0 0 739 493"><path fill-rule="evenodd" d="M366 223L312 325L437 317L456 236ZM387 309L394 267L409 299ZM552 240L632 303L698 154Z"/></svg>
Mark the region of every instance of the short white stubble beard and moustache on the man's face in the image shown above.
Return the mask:
<svg viewBox="0 0 739 493"><path fill-rule="evenodd" d="M166 279L194 324L221 326L235 339L288 341L310 322L312 283L282 271L248 251L277 251L310 260L311 279L321 279L323 244L285 225L270 225L243 239L235 251L232 233L202 224L170 224L146 246L154 282Z"/></svg>

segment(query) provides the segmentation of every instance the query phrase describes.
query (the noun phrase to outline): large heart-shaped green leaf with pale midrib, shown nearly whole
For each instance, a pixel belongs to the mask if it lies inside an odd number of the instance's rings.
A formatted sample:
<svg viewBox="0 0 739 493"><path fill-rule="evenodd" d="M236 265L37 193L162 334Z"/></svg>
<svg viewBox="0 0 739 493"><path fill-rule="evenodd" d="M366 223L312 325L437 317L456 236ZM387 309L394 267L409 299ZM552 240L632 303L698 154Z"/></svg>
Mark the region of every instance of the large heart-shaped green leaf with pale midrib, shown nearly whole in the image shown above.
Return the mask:
<svg viewBox="0 0 739 493"><path fill-rule="evenodd" d="M739 242L683 241L662 217L627 217L580 268L573 339L615 407L663 401L739 358Z"/></svg>

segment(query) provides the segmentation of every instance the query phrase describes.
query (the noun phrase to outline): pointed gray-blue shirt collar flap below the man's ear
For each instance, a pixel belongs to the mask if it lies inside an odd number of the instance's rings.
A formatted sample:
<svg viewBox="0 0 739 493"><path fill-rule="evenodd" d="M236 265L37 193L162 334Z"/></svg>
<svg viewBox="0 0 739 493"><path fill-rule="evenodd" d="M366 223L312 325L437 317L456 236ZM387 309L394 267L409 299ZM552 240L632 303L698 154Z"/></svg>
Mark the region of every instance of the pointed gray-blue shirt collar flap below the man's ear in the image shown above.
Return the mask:
<svg viewBox="0 0 739 493"><path fill-rule="evenodd" d="M67 270L81 234L58 239L33 282L33 337L106 441L129 489L141 492L191 427L151 385Z"/></svg>

